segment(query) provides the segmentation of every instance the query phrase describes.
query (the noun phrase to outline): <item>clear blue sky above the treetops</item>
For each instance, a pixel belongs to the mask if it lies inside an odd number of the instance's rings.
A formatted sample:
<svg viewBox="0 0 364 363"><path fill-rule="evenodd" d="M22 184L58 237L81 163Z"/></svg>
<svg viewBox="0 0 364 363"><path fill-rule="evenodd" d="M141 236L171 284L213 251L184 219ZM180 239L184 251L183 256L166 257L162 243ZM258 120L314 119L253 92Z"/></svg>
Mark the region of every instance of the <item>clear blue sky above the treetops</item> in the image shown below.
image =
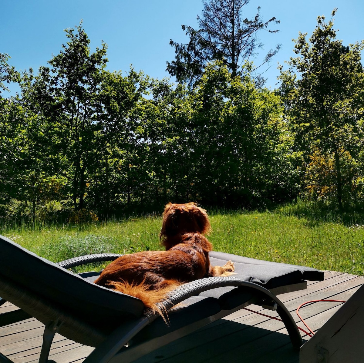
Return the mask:
<svg viewBox="0 0 364 363"><path fill-rule="evenodd" d="M58 54L67 42L63 29L74 27L83 19L92 50L101 45L101 40L108 45L109 70L127 72L132 64L135 70L156 78L169 76L166 61L174 59L169 40L187 42L181 24L196 28L196 16L202 10L201 0L0 1L0 52L8 53L12 57L9 63L18 70L37 70L47 65L52 54ZM299 31L310 36L318 15L325 15L328 20L337 7L334 24L339 29L338 38L345 45L364 39L362 0L251 0L244 7L245 16L252 18L258 6L263 19L274 16L281 21L270 27L279 29L279 33L260 34L265 44L261 56L277 43L282 44L278 55L263 69L266 85L272 88L279 74L277 62L294 56L292 39L297 38ZM11 94L16 90L11 86Z"/></svg>

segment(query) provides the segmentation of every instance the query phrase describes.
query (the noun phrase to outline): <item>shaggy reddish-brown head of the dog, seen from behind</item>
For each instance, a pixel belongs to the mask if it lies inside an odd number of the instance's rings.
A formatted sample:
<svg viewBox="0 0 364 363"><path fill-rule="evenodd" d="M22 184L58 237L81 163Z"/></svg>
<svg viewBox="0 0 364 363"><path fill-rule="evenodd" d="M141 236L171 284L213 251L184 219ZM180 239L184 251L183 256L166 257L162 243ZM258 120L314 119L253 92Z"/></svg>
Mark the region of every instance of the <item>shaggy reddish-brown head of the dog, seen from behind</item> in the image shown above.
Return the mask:
<svg viewBox="0 0 364 363"><path fill-rule="evenodd" d="M168 203L163 213L161 241L187 232L208 234L211 230L206 210L196 203Z"/></svg>

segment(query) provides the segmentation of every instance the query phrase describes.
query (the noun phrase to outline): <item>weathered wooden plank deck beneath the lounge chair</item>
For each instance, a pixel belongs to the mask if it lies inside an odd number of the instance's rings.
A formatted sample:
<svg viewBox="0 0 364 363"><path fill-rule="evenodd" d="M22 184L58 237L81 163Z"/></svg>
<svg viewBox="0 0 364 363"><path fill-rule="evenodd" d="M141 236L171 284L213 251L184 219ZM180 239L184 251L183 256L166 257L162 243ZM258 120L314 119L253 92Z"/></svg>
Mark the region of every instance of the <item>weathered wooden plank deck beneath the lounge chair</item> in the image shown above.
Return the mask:
<svg viewBox="0 0 364 363"><path fill-rule="evenodd" d="M310 300L348 300L364 283L364 277L334 271L325 272L325 280L308 282L306 290L278 297L292 313L298 326L305 328L296 315L297 307ZM300 310L313 331L317 331L340 308L340 303L320 302ZM251 310L277 316L276 312L251 305ZM16 309L10 303L0 307L0 313ZM0 352L16 363L38 362L43 325L35 319L0 328ZM301 332L304 340L309 337ZM93 348L72 342L56 334L50 359L57 363L82 362ZM298 362L298 352L292 350L283 323L248 310L211 323L184 338L151 352L136 362Z"/></svg>

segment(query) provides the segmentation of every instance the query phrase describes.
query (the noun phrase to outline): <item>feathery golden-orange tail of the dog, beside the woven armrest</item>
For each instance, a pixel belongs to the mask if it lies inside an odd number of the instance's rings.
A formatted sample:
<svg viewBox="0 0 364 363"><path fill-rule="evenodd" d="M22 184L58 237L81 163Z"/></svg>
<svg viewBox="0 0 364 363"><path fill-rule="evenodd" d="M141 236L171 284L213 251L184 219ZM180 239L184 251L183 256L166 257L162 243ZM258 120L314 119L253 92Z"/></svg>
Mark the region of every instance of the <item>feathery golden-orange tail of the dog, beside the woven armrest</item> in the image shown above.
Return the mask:
<svg viewBox="0 0 364 363"><path fill-rule="evenodd" d="M154 285L148 285L144 281L141 284L113 281L109 282L107 287L140 299L146 308L150 308L154 313L161 315L167 323L167 310L163 305L158 303L165 300L167 294L180 285L182 285L182 282L177 280L165 280L156 288Z"/></svg>

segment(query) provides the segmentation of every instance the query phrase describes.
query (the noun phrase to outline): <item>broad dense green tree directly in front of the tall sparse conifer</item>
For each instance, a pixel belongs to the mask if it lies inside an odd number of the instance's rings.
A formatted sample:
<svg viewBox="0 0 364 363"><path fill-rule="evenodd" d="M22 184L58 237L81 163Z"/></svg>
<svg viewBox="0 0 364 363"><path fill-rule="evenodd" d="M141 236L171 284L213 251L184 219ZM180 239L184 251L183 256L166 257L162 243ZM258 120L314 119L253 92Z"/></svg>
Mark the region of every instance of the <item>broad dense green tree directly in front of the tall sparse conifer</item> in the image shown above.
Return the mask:
<svg viewBox="0 0 364 363"><path fill-rule="evenodd" d="M278 191L276 165L285 152L279 147L279 97L257 88L249 76L232 77L217 61L207 66L183 109L190 109L184 141L191 160L187 183L194 200L252 206L277 198L272 193Z"/></svg>

